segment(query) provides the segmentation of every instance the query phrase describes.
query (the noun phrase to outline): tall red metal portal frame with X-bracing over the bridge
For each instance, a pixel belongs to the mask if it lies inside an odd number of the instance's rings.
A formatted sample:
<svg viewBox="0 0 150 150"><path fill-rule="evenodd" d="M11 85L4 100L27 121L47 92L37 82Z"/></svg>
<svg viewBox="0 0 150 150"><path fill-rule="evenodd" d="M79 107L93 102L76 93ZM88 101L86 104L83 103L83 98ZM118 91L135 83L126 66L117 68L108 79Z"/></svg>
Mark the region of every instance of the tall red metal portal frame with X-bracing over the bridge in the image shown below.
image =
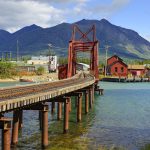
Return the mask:
<svg viewBox="0 0 150 150"><path fill-rule="evenodd" d="M80 35L80 37L77 37ZM68 71L67 77L71 77L76 74L76 61L78 52L89 52L90 55L90 72L98 77L98 41L96 40L95 25L93 25L87 32L82 32L77 25L73 26L72 38L69 42L68 49Z"/></svg>

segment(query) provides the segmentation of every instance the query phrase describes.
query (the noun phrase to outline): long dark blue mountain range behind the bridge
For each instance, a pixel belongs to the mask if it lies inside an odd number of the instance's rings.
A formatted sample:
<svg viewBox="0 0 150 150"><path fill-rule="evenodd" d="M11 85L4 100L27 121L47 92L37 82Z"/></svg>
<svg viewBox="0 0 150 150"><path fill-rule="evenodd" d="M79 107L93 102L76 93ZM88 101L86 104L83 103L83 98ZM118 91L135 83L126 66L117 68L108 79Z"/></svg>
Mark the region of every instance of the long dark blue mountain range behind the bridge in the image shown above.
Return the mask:
<svg viewBox="0 0 150 150"><path fill-rule="evenodd" d="M105 46L109 45L109 55L117 54L126 58L150 59L150 42L137 32L111 24L106 19L80 20L75 22L81 30L86 31L91 25L96 26L96 36L100 41L100 55L104 55ZM67 55L71 38L72 25L62 23L50 28L31 25L15 33L0 30L0 51L12 51L16 54L16 43L19 41L20 55L37 55L51 49L58 55ZM60 47L60 48L59 48Z"/></svg>

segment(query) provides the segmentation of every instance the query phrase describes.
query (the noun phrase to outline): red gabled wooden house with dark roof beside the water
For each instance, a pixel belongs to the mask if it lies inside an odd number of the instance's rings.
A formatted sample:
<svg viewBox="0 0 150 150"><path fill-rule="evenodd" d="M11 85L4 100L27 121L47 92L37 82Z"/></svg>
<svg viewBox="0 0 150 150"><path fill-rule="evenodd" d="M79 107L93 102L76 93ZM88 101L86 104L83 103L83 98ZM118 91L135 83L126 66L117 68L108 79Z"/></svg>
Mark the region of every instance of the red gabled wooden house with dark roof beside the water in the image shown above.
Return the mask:
<svg viewBox="0 0 150 150"><path fill-rule="evenodd" d="M128 75L128 65L123 62L123 60L114 55L107 59L107 75L113 76L124 76Z"/></svg>

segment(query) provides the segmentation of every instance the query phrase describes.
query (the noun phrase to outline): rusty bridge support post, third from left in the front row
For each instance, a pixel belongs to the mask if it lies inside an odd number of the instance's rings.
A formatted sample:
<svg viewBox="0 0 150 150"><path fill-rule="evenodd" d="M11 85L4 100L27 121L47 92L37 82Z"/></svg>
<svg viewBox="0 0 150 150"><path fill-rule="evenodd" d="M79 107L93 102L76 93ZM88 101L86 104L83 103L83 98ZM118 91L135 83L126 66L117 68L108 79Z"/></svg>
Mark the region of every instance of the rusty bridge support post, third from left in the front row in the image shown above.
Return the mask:
<svg viewBox="0 0 150 150"><path fill-rule="evenodd" d="M64 133L68 132L69 128L69 97L64 101Z"/></svg>

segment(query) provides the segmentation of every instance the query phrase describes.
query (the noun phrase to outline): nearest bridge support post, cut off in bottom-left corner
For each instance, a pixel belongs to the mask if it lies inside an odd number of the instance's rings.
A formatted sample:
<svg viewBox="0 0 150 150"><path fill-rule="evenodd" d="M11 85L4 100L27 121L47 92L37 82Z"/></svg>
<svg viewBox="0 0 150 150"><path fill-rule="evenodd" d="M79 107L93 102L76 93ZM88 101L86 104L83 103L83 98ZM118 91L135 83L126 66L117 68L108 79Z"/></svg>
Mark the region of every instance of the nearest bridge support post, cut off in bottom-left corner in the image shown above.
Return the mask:
<svg viewBox="0 0 150 150"><path fill-rule="evenodd" d="M0 118L0 129L2 129L2 150L10 150L11 137L11 119Z"/></svg>

